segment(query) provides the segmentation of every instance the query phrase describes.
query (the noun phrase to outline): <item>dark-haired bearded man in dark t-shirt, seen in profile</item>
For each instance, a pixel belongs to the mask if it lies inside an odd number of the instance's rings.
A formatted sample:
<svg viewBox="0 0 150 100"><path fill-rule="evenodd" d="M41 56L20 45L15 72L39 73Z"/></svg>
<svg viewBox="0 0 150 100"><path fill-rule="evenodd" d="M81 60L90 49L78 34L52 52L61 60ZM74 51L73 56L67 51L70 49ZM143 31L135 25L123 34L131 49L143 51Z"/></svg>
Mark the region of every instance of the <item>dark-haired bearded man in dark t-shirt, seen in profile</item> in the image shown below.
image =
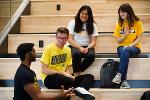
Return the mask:
<svg viewBox="0 0 150 100"><path fill-rule="evenodd" d="M31 62L36 60L33 43L22 43L17 48L21 60L14 77L13 100L65 100L71 95L72 89L62 91L58 95L42 93L37 83L36 74L30 69Z"/></svg>

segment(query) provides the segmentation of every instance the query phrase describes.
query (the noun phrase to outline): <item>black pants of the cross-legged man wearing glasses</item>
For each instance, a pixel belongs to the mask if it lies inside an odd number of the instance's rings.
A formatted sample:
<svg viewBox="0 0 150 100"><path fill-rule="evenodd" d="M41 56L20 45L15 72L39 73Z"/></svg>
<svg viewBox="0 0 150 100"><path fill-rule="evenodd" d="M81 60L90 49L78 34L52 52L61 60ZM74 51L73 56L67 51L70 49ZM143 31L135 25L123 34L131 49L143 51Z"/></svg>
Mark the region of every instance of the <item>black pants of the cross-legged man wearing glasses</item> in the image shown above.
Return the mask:
<svg viewBox="0 0 150 100"><path fill-rule="evenodd" d="M94 80L94 76L91 74L85 74L77 76L74 80L63 76L61 74L53 74L48 75L44 80L44 85L48 89L60 89L61 85L64 86L65 89L70 87L83 87L86 90L89 90Z"/></svg>

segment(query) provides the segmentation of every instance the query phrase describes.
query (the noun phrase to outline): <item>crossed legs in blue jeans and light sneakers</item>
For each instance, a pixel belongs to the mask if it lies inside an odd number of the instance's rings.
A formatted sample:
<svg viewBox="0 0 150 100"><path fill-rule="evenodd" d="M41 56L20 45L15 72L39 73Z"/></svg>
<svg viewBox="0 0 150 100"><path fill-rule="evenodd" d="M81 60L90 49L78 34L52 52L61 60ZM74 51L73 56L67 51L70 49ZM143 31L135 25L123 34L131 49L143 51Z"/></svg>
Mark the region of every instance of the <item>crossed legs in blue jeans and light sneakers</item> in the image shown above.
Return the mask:
<svg viewBox="0 0 150 100"><path fill-rule="evenodd" d="M127 77L127 70L128 70L128 63L129 63L129 58L139 55L140 54L140 49L136 47L118 47L117 48L118 55L120 57L120 64L119 64L119 72L115 76L115 78L112 80L114 83L120 84L122 82L122 85L124 87L129 88L129 84L126 81ZM121 87L122 87L121 85Z"/></svg>

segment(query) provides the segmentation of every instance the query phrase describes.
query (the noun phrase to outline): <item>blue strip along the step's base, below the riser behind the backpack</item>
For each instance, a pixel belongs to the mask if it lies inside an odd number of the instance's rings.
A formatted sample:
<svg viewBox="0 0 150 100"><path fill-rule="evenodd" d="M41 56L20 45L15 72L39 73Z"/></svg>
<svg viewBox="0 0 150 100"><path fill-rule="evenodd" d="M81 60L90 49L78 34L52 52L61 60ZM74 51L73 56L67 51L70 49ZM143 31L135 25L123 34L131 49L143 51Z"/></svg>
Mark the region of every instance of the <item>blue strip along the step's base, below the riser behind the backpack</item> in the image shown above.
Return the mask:
<svg viewBox="0 0 150 100"><path fill-rule="evenodd" d="M131 88L150 88L150 80L128 80ZM44 87L41 80L38 80L40 87ZM0 87L13 87L14 80L0 80ZM92 88L100 88L100 81L95 80Z"/></svg>

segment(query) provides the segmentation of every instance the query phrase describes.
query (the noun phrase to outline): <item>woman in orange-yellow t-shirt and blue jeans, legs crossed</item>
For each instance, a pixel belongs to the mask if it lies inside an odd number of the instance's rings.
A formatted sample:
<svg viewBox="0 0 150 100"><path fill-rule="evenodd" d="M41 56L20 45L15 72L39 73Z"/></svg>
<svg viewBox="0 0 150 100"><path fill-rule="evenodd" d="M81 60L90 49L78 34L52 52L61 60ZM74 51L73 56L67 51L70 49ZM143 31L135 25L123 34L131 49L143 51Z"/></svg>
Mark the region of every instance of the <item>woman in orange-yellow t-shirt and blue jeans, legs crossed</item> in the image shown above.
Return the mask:
<svg viewBox="0 0 150 100"><path fill-rule="evenodd" d="M141 53L141 36L143 33L142 22L135 15L132 7L126 3L118 9L118 23L113 36L118 43L117 53L120 57L119 72L112 82L121 83L120 88L130 88L127 82L129 58Z"/></svg>

